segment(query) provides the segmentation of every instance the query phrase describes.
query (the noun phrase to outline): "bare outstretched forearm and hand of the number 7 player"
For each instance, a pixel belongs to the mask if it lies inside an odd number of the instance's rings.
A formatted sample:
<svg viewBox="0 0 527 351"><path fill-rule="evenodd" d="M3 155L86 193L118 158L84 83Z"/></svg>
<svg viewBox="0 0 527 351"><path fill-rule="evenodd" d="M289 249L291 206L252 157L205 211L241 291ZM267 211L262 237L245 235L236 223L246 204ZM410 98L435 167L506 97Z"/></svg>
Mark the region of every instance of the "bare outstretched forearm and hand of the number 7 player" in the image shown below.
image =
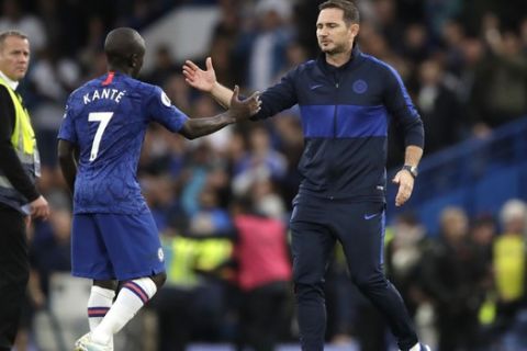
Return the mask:
<svg viewBox="0 0 527 351"><path fill-rule="evenodd" d="M227 111L213 117L189 118L179 133L188 139L194 139L214 133L226 125L247 120L260 111L261 102L258 92L253 93L253 95L243 101L239 100L238 93L239 88L236 86L231 94Z"/></svg>

